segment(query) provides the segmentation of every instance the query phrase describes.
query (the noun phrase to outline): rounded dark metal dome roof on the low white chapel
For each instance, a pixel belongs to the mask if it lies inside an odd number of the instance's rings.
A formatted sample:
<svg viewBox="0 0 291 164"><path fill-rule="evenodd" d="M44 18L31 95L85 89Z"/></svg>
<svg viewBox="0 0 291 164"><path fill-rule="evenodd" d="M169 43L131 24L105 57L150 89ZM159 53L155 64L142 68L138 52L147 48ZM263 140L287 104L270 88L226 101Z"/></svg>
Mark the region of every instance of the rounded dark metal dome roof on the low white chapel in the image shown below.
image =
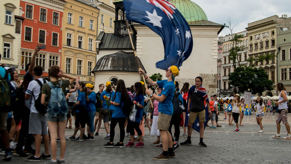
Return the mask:
<svg viewBox="0 0 291 164"><path fill-rule="evenodd" d="M91 71L92 73L97 71L127 71L138 72L139 67L136 63L136 58L133 52L118 51L114 54L109 54L101 57ZM139 58L138 58L139 59ZM141 63L140 59L139 62ZM141 69L145 71L145 68L141 64Z"/></svg>

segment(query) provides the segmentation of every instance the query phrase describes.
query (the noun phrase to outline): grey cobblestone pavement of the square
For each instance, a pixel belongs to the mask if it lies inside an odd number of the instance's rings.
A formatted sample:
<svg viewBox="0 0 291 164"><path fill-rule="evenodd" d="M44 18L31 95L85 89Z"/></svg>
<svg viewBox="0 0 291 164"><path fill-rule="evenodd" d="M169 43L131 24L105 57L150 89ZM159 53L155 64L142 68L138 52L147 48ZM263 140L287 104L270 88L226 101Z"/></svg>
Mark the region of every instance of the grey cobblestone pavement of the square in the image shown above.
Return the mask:
<svg viewBox="0 0 291 164"><path fill-rule="evenodd" d="M275 118L277 114L274 115ZM258 133L260 129L253 119L253 115L246 115L243 119L244 126L239 126L240 132L233 132L235 125L228 125L224 114L219 115L219 124L225 128L218 127L205 129L203 141L207 147L198 147L199 133L192 133L192 145L180 146L175 150L176 158L170 160L156 161L152 157L159 155L162 148L155 147L152 144L157 138L150 136L148 128L145 127L144 143L145 147L124 147L124 148L104 148L103 144L109 142L104 140L106 136L105 129L101 128L99 136L95 136L94 141L74 142L67 141L65 153L66 163L291 163L290 145L291 140L283 140L287 134L286 128L281 124L281 139L270 139L271 135L276 134L276 124L272 117L263 118L264 133ZM289 115L289 119L291 119ZM74 120L74 119L73 119ZM103 127L103 125L102 125ZM73 126L74 129L74 126ZM67 137L73 134L73 129L66 131ZM181 134L183 129L180 128ZM217 133L216 133L217 132ZM229 135L226 135L228 132ZM252 135L252 132L254 134ZM180 134L180 135L181 135ZM186 138L180 137L180 142ZM124 142L127 143L129 137L125 136ZM116 126L116 135L114 142L119 141L119 130ZM34 144L33 144L34 147ZM59 156L59 143L58 153ZM42 144L41 152L44 151ZM24 161L24 157L13 156L10 162L0 161L0 163L33 163ZM48 160L42 160L38 163L45 163Z"/></svg>

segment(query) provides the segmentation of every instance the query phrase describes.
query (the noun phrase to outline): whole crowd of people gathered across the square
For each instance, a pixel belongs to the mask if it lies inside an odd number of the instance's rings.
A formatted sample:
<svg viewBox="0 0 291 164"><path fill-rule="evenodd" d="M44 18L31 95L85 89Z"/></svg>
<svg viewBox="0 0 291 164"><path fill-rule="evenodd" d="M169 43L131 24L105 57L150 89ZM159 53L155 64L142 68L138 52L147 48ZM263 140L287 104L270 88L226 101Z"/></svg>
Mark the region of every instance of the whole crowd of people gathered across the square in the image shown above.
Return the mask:
<svg viewBox="0 0 291 164"><path fill-rule="evenodd" d="M166 80L156 82L143 70L139 70L149 85L157 87L157 94L146 89L142 81L135 82L127 88L122 79L117 81L116 86L109 81L105 85L99 84L99 91L95 92L93 84L85 84L79 77L64 74L57 65L49 68L49 78L42 78L43 68L35 64L39 50L40 47L37 46L31 63L25 67L26 74L23 80L19 79L14 67L0 67L0 83L3 91L0 94L2 99L0 100L2 141L0 153L4 153L3 160L10 161L13 153L16 156L27 157L26 161L50 159L46 164L65 163L66 140L76 142L95 140L94 136L99 135L102 120L107 133L104 139L109 140L103 147L124 147L125 136L130 137L125 147L144 147L144 128L147 126L150 135L157 136L153 144L163 149L161 154L153 157L155 160L175 158L175 149L180 145L192 144L191 127L197 117L200 126L198 146L207 147L203 142L204 122L205 119L211 121L211 126L206 125L210 128L221 127L218 124L220 108L223 108L224 119L227 119L228 115L229 125L233 125L234 120L235 132L239 132L239 126L243 126L242 119L246 104L239 94L231 100L217 100L217 95L210 96L209 100L207 91L202 85L203 79L199 76L195 78L195 85L190 87L189 83L185 82L180 90L179 83L175 81L175 77L179 75L176 66L166 70ZM75 85L71 85L74 82ZM277 84L277 89L280 91L279 100L274 103L278 105L277 133L272 137L281 137L282 121L288 131L288 135L283 139L290 139L288 111L284 110L288 108L286 89L282 83ZM6 90L9 91L9 96ZM258 97L255 104L256 119L260 125L258 132L263 133L264 106L268 108L272 103L265 104L262 98ZM208 118L205 118L205 112L208 112ZM188 124L185 125L187 114L189 119ZM72 128L72 117L75 120L74 134L66 138L65 129ZM119 141L114 143L117 124L120 137ZM180 126L183 127L182 135L180 135ZM174 127L173 133L172 127ZM77 136L79 130L80 134ZM187 137L187 139L179 144L180 137ZM57 142L60 142L61 148L58 158L56 157ZM43 153L40 151L41 143L44 143L45 147ZM31 156L28 157L29 155Z"/></svg>

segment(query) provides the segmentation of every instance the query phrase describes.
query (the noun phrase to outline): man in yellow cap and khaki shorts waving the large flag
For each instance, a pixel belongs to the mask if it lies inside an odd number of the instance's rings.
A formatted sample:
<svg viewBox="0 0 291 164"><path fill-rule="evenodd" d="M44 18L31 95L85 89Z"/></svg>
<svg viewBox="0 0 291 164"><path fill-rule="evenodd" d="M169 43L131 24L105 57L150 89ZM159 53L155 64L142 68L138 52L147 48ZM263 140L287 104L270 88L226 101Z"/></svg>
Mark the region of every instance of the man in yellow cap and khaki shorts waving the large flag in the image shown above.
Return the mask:
<svg viewBox="0 0 291 164"><path fill-rule="evenodd" d="M166 77L168 80L162 80L154 82L152 79L145 74L143 70L139 70L140 74L143 74L145 80L151 85L162 88L162 95L153 95L150 90L146 90L146 94L152 96L159 101L159 118L158 118L158 129L161 133L163 153L159 156L153 157L153 159L169 159L174 158L175 153L173 151L172 136L168 131L172 114L173 114L173 96L175 91L175 76L179 75L179 70L176 66L171 66L166 70ZM166 146L168 145L168 146Z"/></svg>

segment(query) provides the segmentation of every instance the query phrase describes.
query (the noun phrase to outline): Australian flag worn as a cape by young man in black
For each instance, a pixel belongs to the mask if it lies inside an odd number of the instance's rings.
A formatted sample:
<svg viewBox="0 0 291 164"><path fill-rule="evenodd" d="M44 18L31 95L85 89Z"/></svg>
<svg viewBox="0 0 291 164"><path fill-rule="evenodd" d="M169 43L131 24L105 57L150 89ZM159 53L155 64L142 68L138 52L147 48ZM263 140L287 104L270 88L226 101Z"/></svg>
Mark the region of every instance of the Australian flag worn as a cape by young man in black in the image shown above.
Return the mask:
<svg viewBox="0 0 291 164"><path fill-rule="evenodd" d="M190 94L190 91L194 91L194 92L197 92L199 93L203 98L204 98L204 105L205 105L205 122L204 122L204 129L206 127L206 124L207 124L207 121L208 121L208 109L207 109L207 105L206 105L206 102L209 103L209 99L208 99L208 95L207 95L207 91L204 87L201 87L199 89L196 89L195 90L195 87L196 85L193 85L190 89L189 89L189 94ZM188 96L188 100L189 100L189 97ZM187 106L188 106L188 103L191 103L187 100ZM190 104L190 109L191 109L191 104ZM184 126L187 127L188 126L188 120L189 120L189 113L188 113L188 110L186 110L186 116L185 116L185 124ZM192 128L197 131L197 132L200 132L200 126L199 126L199 118L197 116L195 122L193 123L192 125Z"/></svg>

